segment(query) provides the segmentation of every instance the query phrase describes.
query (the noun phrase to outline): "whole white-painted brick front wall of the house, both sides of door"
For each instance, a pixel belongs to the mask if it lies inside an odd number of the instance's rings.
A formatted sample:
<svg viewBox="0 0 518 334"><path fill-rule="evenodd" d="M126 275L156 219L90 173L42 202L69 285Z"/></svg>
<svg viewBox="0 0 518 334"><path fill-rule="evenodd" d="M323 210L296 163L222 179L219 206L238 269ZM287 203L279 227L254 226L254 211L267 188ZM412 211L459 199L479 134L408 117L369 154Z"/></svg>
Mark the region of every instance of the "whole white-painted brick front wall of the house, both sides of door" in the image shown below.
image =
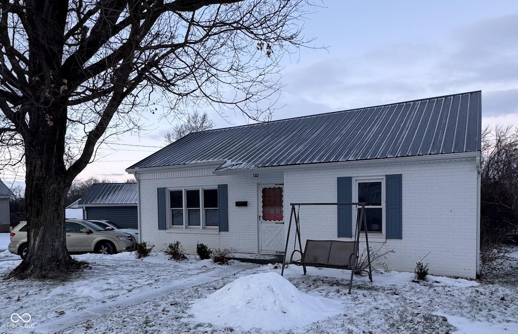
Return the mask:
<svg viewBox="0 0 518 334"><path fill-rule="evenodd" d="M258 247L258 184L284 183L285 231L290 203L336 202L337 177L383 177L402 174L402 239L369 238L372 248L394 250L386 259L392 270L411 271L415 263L429 263L430 274L474 278L477 258L477 171L473 160L387 163L340 168L292 168L277 173L215 176L210 170L189 173L147 173L140 178L141 238L163 249L180 240L189 253L196 243L210 248L234 248L256 253ZM346 165L347 166L347 165ZM191 175L191 176L189 176ZM217 234L158 230L156 189L228 185L228 229ZM354 186L354 183L353 183ZM248 201L236 207L236 201ZM301 207L301 238L338 239L337 208ZM347 239L347 238L344 238ZM293 250L293 236L290 248ZM304 244L303 244L304 245Z"/></svg>

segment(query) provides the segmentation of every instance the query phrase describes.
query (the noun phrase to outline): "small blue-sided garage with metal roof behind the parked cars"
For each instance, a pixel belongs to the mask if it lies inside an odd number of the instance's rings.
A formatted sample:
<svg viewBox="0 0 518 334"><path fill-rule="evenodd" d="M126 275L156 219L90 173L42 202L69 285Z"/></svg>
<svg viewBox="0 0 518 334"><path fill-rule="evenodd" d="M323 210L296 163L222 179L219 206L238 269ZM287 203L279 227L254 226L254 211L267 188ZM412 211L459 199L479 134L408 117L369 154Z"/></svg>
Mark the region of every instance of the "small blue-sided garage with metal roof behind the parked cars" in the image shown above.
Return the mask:
<svg viewBox="0 0 518 334"><path fill-rule="evenodd" d="M79 200L84 219L110 220L123 229L138 226L137 184L96 183Z"/></svg>

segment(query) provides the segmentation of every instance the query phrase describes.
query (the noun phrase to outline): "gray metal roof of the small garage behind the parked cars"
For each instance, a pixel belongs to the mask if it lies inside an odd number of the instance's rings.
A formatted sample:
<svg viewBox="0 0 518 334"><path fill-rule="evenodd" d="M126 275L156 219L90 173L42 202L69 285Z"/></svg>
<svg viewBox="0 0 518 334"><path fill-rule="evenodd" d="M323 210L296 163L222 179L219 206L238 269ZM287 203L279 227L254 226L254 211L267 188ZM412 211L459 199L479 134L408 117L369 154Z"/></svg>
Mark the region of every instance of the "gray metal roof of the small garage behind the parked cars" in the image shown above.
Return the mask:
<svg viewBox="0 0 518 334"><path fill-rule="evenodd" d="M90 186L78 204L137 204L137 184L95 183Z"/></svg>

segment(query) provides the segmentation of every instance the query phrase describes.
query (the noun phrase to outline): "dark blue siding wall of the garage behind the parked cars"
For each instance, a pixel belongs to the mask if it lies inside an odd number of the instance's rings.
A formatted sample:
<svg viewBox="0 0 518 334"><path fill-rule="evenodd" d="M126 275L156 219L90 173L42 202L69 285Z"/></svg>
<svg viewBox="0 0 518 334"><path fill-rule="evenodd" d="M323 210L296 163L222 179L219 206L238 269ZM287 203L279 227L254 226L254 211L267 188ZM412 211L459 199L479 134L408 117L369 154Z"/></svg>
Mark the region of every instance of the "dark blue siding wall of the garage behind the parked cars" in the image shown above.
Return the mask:
<svg viewBox="0 0 518 334"><path fill-rule="evenodd" d="M121 229L138 229L136 206L87 206L87 219L106 219Z"/></svg>

